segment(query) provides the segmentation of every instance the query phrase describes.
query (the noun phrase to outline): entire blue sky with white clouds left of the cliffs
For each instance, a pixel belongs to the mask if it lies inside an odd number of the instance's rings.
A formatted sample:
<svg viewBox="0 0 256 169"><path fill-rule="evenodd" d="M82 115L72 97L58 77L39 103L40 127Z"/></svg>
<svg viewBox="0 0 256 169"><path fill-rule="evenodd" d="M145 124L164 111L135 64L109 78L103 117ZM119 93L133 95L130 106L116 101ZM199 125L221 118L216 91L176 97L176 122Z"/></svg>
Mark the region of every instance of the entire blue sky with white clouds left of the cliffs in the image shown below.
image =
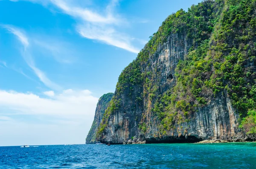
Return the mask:
<svg viewBox="0 0 256 169"><path fill-rule="evenodd" d="M0 146L85 143L103 94L201 0L0 0Z"/></svg>

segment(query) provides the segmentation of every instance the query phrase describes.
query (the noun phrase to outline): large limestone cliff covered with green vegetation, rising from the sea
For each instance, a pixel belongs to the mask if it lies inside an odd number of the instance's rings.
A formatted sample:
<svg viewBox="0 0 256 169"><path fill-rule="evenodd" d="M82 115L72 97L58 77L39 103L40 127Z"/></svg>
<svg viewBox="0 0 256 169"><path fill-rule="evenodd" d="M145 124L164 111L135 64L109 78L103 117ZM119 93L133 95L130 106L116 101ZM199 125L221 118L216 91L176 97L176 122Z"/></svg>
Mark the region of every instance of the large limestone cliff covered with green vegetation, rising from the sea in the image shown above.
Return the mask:
<svg viewBox="0 0 256 169"><path fill-rule="evenodd" d="M250 140L239 119L256 103L255 9L253 0L207 0L170 15L121 73L96 137Z"/></svg>

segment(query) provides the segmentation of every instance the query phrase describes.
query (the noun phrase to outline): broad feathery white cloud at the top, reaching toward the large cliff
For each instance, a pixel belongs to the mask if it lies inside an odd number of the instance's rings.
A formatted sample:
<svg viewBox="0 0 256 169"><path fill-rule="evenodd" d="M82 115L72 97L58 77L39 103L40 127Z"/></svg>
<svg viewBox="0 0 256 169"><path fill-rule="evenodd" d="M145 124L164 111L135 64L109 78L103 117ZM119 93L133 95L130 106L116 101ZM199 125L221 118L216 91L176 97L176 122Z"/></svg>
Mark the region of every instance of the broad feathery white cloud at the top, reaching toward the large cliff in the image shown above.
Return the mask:
<svg viewBox="0 0 256 169"><path fill-rule="evenodd" d="M101 12L81 7L71 0L27 0L33 3L53 4L61 12L73 17L76 31L87 39L98 40L102 43L125 49L129 52L138 53L140 50L133 45L136 38L122 33L120 27L128 25L128 21L115 11L119 0L111 0L108 6Z"/></svg>

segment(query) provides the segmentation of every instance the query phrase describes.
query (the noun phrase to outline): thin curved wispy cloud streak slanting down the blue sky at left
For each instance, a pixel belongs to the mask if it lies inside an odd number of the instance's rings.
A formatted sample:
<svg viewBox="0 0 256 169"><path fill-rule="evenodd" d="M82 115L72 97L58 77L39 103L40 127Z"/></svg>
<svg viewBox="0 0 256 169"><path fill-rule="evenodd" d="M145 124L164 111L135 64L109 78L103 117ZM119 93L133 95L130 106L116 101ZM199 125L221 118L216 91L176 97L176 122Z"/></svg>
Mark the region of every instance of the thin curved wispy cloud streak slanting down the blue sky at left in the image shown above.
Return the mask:
<svg viewBox="0 0 256 169"><path fill-rule="evenodd" d="M45 86L55 89L55 90L61 90L61 87L57 85L56 83L49 80L49 78L42 72L40 69L38 69L35 66L34 59L28 49L29 46L29 40L26 34L21 30L11 25L2 25L3 28L7 29L12 34L15 34L18 40L23 44L23 51L21 54L23 55L24 60L28 64L28 66L33 70L33 72L37 75L37 77L45 84Z"/></svg>

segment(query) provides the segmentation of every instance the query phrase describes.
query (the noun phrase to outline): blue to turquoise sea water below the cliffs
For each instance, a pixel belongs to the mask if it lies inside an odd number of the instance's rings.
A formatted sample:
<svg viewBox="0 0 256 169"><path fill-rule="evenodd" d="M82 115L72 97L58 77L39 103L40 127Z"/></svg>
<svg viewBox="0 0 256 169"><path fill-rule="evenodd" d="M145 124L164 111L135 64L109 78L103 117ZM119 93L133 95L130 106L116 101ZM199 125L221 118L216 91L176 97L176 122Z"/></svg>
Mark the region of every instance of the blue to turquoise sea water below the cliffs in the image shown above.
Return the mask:
<svg viewBox="0 0 256 169"><path fill-rule="evenodd" d="M256 169L256 143L0 147L1 169Z"/></svg>

